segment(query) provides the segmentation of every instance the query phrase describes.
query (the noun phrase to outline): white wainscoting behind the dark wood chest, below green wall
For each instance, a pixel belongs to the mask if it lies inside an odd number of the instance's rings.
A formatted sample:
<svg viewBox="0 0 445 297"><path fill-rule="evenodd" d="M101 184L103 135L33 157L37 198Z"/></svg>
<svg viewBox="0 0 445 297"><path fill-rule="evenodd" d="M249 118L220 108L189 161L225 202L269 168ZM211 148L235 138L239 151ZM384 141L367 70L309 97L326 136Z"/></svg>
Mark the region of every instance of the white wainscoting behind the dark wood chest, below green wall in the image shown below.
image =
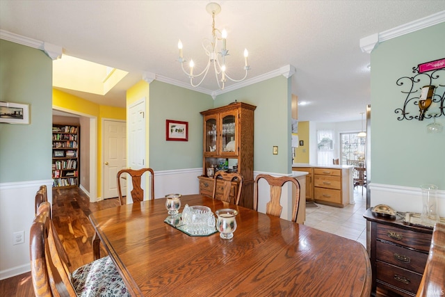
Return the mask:
<svg viewBox="0 0 445 297"><path fill-rule="evenodd" d="M386 204L395 211L421 213L422 191L420 187L395 186L391 184L369 184L371 207ZM445 191L437 191L437 213L445 217Z"/></svg>

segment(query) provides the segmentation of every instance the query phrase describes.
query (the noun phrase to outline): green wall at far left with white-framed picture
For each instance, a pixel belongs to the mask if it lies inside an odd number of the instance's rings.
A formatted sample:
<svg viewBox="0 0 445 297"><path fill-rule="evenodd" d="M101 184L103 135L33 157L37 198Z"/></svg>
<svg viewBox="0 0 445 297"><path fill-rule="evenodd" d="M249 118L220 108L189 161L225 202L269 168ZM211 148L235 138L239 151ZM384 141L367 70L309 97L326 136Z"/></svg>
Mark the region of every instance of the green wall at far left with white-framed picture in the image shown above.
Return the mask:
<svg viewBox="0 0 445 297"><path fill-rule="evenodd" d="M0 101L29 104L31 121L0 124L0 182L51 179L51 58L6 40L0 57Z"/></svg>

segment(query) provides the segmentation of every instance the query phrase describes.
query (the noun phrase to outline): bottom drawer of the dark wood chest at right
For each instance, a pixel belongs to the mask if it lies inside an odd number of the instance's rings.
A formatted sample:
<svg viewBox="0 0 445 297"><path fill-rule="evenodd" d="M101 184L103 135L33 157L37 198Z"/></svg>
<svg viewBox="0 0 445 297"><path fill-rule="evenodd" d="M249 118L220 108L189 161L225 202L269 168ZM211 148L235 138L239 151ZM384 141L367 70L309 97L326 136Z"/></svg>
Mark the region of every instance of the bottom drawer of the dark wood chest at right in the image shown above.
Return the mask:
<svg viewBox="0 0 445 297"><path fill-rule="evenodd" d="M416 294L422 275L378 261L377 280Z"/></svg>

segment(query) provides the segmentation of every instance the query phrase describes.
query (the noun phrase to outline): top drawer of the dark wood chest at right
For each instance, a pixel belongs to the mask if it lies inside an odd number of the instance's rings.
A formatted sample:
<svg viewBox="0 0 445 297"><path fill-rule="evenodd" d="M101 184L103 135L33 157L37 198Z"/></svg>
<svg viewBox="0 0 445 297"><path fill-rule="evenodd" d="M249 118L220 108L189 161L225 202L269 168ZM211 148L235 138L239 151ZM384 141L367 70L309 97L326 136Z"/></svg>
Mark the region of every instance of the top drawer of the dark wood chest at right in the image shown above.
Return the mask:
<svg viewBox="0 0 445 297"><path fill-rule="evenodd" d="M377 239L391 241L416 250L430 251L431 234L414 232L389 225L377 224Z"/></svg>

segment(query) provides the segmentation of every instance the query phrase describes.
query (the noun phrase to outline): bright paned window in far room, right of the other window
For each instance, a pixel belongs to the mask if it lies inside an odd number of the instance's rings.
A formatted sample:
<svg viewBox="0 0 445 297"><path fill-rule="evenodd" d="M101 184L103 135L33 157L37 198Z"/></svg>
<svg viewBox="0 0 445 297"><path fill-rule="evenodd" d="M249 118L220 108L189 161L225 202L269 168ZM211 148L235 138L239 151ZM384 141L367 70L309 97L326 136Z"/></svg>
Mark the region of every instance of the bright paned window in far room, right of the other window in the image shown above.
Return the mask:
<svg viewBox="0 0 445 297"><path fill-rule="evenodd" d="M357 133L341 133L340 163L347 164L347 160L364 160L366 138L358 137Z"/></svg>

